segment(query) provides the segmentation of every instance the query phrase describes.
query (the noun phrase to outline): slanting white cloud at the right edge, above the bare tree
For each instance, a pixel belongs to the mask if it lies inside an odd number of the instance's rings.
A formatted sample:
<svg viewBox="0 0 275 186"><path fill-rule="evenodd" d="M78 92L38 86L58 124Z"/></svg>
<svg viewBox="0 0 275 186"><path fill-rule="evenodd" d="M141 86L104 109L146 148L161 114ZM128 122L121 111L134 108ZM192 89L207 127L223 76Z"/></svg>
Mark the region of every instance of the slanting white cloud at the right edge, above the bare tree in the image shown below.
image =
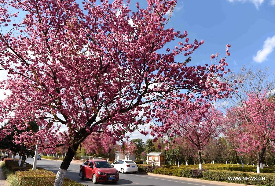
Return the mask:
<svg viewBox="0 0 275 186"><path fill-rule="evenodd" d="M261 50L257 52L256 56L253 56L253 60L257 63L262 63L266 60L266 57L273 51L275 47L275 35L270 38L268 37L264 42Z"/></svg>

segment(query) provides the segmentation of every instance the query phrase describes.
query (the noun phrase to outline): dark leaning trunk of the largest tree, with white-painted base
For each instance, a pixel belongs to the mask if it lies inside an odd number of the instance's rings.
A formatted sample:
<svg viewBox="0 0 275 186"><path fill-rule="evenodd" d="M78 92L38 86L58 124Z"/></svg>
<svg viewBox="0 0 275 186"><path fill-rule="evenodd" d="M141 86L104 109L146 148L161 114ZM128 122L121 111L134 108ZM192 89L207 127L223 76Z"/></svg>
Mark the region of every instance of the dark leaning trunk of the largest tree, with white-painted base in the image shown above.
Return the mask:
<svg viewBox="0 0 275 186"><path fill-rule="evenodd" d="M68 152L63 160L63 162L60 165L60 168L56 174L54 186L62 186L63 180L66 175L66 171L68 167L70 166L71 160L75 156L75 152L77 151L79 144L73 145L73 147L68 148Z"/></svg>

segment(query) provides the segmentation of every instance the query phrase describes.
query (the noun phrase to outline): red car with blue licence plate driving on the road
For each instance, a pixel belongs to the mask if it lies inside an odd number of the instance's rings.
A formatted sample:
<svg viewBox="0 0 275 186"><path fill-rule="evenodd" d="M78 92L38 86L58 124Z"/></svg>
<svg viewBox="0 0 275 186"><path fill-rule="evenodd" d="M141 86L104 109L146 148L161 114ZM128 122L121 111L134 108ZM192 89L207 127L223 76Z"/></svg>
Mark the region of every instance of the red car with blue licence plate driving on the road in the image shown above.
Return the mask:
<svg viewBox="0 0 275 186"><path fill-rule="evenodd" d="M102 159L92 159L80 165L80 179L84 177L92 179L93 183L97 182L117 182L119 172L108 161Z"/></svg>

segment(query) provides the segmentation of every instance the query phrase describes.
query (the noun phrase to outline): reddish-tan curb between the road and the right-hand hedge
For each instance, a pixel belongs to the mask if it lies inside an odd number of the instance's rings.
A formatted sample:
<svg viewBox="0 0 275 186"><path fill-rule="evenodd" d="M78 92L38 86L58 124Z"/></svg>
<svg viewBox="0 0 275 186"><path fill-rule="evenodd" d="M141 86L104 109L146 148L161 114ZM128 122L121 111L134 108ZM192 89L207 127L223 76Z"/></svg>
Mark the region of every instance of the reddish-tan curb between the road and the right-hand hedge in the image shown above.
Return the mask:
<svg viewBox="0 0 275 186"><path fill-rule="evenodd" d="M138 173L144 174L144 175L149 175L149 176L165 177L165 178L184 180L184 181L194 181L194 182L200 182L200 183L206 183L206 184L216 184L216 185L222 184L225 186L253 186L253 185L247 185L247 184L236 184L236 183L228 183L228 182L221 182L221 181L201 180L201 179L188 178L188 177L169 176L169 175L164 175L164 174L143 173L143 172L138 172Z"/></svg>

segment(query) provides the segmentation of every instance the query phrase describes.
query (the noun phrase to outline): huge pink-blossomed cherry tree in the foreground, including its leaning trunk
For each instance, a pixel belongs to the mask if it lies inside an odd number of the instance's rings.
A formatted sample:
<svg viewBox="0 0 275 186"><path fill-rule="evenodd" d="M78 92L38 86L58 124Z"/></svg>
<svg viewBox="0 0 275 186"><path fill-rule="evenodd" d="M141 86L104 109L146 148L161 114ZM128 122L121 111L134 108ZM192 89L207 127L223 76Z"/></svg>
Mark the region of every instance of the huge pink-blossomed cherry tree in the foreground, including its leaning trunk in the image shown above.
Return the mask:
<svg viewBox="0 0 275 186"><path fill-rule="evenodd" d="M191 93L215 100L233 91L218 78L230 71L224 58L210 66L187 66L190 58L174 61L204 43L189 42L186 31L166 28L165 15L173 11L175 0L149 0L145 9L137 3L135 12L123 0L88 0L82 7L75 0L0 3L0 66L9 73L0 88L11 91L0 102L0 122L11 122L0 136L35 118L43 128L30 137L33 141L39 139L44 148L68 145L55 186L63 184L79 144L91 132L110 127L108 135L116 141L128 139L128 131L149 123L143 118L163 105L189 110L198 107ZM20 14L9 13L14 9ZM175 38L177 46L167 48ZM62 125L68 132L60 138Z"/></svg>

